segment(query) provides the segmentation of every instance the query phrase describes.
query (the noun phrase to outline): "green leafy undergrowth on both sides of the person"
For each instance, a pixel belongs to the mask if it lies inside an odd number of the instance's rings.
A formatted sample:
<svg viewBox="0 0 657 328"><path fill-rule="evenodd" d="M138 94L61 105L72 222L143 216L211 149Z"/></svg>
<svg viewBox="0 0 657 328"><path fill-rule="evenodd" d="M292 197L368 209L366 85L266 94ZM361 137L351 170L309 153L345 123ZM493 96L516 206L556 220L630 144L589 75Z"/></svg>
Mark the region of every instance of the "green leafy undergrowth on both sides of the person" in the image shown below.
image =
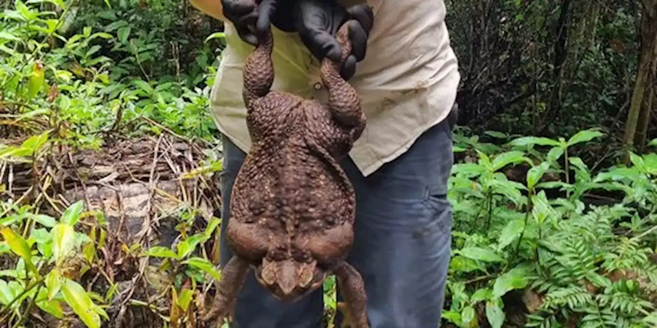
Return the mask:
<svg viewBox="0 0 657 328"><path fill-rule="evenodd" d="M144 53L131 51L154 35L128 30L123 22L129 14L115 12L114 25L72 33L60 28L70 8L63 0L16 0L0 14L0 323L22 327L78 318L101 327L120 300L167 326L193 325L221 275L214 266L220 218L181 211L172 245L112 248L114 232L104 213L86 210L84 201L62 215L45 215L43 208L57 195L37 188L49 182L37 179L25 194L7 190L7 168L35 168L61 146L102 149L116 135L163 132L217 146L208 114L214 78L208 65L214 60L204 60L204 72L194 76L158 81L139 58ZM97 15L115 19L111 10ZM150 47L144 51L150 60L159 58ZM627 165L600 167L599 159L579 156L607 138L597 129L556 140L494 131L488 136L492 142L455 134L458 161L448 194L453 252L443 324L657 325L657 154L631 154ZM213 157L204 169L181 174L220 170L220 158ZM120 253L119 264L104 262L110 248ZM175 277L159 291L168 300L164 308L123 297L112 277L102 277L104 289L83 278L141 258L158 258L156 270ZM325 284L325 306L331 321L338 308L332 278Z"/></svg>

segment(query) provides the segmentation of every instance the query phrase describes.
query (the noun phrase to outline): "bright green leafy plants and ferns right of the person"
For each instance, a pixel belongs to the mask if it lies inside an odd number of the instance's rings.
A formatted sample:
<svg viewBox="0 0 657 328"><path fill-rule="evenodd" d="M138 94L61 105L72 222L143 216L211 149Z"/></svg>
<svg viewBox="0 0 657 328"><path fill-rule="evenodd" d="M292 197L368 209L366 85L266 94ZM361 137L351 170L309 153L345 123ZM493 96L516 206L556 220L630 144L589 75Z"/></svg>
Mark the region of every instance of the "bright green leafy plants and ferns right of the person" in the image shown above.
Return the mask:
<svg viewBox="0 0 657 328"><path fill-rule="evenodd" d="M602 135L587 130L568 140L520 137L494 147L495 155L461 138L461 150L474 148L478 161L456 164L449 180L456 231L451 300L443 312L447 321L472 327L482 304L489 323L502 327L503 297L526 290L543 299L528 314L528 327L553 327L572 318L578 327L612 322L649 327L646 320L655 309L650 293L657 286L657 266L650 261L657 230L657 157L632 155L631 167L613 167L594 177L569 150ZM535 150L535 145L549 150ZM528 168L524 181L502 173L518 165ZM546 173L551 180L545 180ZM564 174L565 181L555 180L555 174ZM549 197L554 189L566 194ZM585 195L595 190L620 190L625 197L610 205L585 203Z"/></svg>

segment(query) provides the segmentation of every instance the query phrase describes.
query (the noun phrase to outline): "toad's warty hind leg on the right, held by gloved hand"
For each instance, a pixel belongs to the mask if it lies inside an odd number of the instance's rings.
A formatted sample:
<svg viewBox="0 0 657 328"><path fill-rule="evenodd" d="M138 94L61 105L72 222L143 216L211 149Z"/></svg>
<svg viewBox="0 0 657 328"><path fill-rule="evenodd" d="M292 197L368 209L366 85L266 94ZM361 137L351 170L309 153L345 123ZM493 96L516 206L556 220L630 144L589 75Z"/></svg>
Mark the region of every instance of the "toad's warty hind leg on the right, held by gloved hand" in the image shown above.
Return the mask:
<svg viewBox="0 0 657 328"><path fill-rule="evenodd" d="M351 52L349 28L352 22L352 20L346 22L336 33L336 38L342 48L341 62L344 62ZM334 119L350 131L353 142L363 133L366 119L358 93L340 76L340 66L340 63L325 58L321 66L321 78L328 90L327 105L330 107Z"/></svg>

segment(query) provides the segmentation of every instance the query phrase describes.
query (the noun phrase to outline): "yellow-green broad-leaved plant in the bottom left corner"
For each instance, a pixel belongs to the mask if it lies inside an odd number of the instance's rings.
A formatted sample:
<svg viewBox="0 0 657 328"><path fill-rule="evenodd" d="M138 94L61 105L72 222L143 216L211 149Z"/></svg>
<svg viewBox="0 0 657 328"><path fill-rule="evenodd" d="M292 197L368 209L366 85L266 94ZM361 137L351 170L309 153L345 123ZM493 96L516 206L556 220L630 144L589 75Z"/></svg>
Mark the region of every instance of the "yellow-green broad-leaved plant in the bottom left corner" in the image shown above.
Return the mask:
<svg viewBox="0 0 657 328"><path fill-rule="evenodd" d="M59 220L30 213L29 207L16 209L7 203L3 207L5 212L15 212L0 220L0 234L5 239L0 243L0 254L11 252L18 257L11 258L11 269L1 272L0 321L20 327L34 305L61 319L64 302L87 327L100 327L101 317L109 319L96 303L104 298L85 291L76 281L89 269L96 247L102 247L104 240L76 232L74 227L81 218L95 214L83 213L82 201L68 207ZM101 215L97 219L95 228L102 229L106 222Z"/></svg>

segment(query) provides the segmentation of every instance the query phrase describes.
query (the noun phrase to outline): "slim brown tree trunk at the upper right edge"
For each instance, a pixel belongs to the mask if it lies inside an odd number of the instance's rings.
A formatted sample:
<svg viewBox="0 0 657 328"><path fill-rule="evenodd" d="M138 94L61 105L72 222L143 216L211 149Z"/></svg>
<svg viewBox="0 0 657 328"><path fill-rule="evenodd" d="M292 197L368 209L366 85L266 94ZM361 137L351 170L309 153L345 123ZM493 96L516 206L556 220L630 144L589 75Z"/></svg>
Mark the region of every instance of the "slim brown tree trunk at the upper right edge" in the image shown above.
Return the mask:
<svg viewBox="0 0 657 328"><path fill-rule="evenodd" d="M632 92L632 100L630 102L629 112L627 113L625 137L623 138L623 144L628 151L634 146L635 138L637 138L637 125L639 123L639 116L641 116L641 109L643 108L644 94L646 91L652 91L652 87L648 90L647 82L648 77L653 74L651 71L654 71L652 61L656 51L655 47L657 47L657 0L643 1L642 16L639 32L641 34L641 57L634 91ZM649 116L649 112L645 114L646 118ZM629 163L629 154L625 156L625 163Z"/></svg>

